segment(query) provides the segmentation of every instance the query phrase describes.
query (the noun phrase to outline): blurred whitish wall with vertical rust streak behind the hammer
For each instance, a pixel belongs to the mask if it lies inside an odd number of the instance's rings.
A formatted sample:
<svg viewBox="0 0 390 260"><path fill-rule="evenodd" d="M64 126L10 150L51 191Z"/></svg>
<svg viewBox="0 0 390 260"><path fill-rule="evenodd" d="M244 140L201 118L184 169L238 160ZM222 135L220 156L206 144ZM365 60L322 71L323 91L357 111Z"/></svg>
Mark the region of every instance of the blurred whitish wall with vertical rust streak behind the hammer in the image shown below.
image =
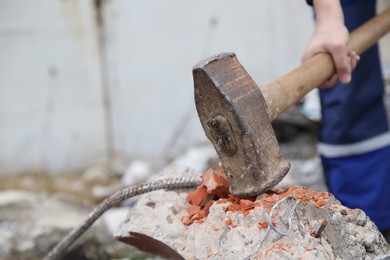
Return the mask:
<svg viewBox="0 0 390 260"><path fill-rule="evenodd" d="M232 51L266 84L299 65L312 29L303 0L0 0L0 174L161 163L207 143L192 67Z"/></svg>

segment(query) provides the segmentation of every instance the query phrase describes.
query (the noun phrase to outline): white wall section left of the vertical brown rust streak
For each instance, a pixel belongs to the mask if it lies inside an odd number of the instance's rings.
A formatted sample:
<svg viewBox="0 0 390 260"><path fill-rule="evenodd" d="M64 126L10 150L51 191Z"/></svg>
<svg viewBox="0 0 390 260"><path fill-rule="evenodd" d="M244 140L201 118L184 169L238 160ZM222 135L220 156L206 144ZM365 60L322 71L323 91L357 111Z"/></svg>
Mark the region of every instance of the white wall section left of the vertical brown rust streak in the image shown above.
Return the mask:
<svg viewBox="0 0 390 260"><path fill-rule="evenodd" d="M73 171L106 157L91 1L0 1L0 172Z"/></svg>

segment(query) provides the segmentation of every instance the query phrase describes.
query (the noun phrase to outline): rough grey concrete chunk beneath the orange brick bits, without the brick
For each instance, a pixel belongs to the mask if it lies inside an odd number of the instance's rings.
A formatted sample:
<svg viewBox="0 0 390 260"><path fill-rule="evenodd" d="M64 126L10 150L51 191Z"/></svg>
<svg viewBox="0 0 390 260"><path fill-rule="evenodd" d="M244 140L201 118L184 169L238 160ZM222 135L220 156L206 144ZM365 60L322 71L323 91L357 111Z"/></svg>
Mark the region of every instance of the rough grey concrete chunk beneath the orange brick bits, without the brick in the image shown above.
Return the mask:
<svg viewBox="0 0 390 260"><path fill-rule="evenodd" d="M333 196L322 206L293 196L270 212L262 204L269 195L263 194L247 216L227 211L229 202L222 201L213 203L202 221L186 226L182 219L188 215L187 195L155 191L140 197L116 237L134 244L142 234L152 238L143 250L159 253L156 247L161 248L162 242L184 259L374 259L390 253L389 244L365 213L342 206ZM279 195L272 196L277 201ZM313 237L323 220L329 224L319 238ZM265 222L275 228L260 228L259 223Z"/></svg>

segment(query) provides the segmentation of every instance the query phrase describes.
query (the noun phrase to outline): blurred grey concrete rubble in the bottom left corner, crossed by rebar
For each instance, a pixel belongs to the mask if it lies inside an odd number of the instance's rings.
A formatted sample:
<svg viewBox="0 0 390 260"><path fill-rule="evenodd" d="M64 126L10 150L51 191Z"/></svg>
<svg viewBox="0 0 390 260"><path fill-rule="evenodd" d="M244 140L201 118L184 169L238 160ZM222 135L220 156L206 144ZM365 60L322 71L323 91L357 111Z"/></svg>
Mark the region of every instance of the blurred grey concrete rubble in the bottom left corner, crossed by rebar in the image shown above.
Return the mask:
<svg viewBox="0 0 390 260"><path fill-rule="evenodd" d="M0 202L1 259L41 259L91 209L91 205L69 196L48 197L19 190L0 192ZM99 221L65 257L87 259L93 252L107 258L102 245L113 241L106 225Z"/></svg>

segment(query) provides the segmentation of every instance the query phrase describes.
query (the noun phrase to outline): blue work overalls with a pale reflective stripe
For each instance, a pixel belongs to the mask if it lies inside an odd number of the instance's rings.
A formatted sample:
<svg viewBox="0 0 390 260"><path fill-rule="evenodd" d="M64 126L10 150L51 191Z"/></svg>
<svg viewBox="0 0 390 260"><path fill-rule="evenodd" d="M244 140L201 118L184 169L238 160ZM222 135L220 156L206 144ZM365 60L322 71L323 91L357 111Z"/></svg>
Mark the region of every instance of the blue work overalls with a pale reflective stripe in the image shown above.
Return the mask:
<svg viewBox="0 0 390 260"><path fill-rule="evenodd" d="M343 11L352 31L376 14L376 3L349 0L343 3ZM390 132L383 95L375 45L361 55L351 83L320 89L318 151L329 191L343 205L364 210L380 230L388 230Z"/></svg>

